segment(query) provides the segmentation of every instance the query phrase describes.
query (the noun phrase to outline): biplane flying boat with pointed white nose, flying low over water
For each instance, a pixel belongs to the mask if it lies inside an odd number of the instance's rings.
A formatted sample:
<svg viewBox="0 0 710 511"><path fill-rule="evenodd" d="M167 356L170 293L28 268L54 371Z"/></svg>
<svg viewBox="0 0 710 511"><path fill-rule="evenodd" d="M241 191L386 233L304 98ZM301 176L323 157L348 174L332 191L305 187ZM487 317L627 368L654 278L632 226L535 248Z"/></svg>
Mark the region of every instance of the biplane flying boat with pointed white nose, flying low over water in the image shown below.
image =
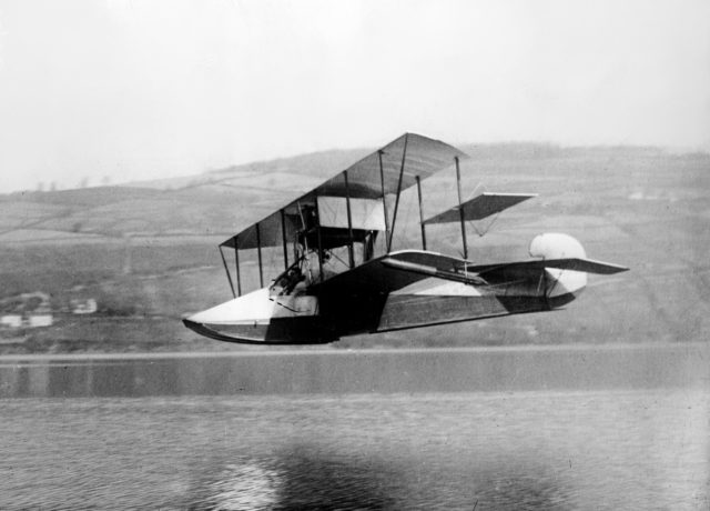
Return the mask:
<svg viewBox="0 0 710 511"><path fill-rule="evenodd" d="M326 343L358 333L549 311L574 300L587 273L627 270L587 259L576 239L560 233L537 236L529 248L534 259L527 261L470 261L466 222L535 196L481 193L462 200L465 158L452 146L414 133L363 158L221 243L233 299L189 315L184 324L221 341ZM422 180L447 168L456 171L458 203L425 218ZM395 251L400 198L410 187L417 190L422 248ZM427 250L427 226L452 222L460 224L463 257ZM234 254L234 279L225 249ZM267 285L266 249L283 251L282 270ZM246 265L257 267L260 285L243 293L240 258L253 259L254 252L257 263Z"/></svg>

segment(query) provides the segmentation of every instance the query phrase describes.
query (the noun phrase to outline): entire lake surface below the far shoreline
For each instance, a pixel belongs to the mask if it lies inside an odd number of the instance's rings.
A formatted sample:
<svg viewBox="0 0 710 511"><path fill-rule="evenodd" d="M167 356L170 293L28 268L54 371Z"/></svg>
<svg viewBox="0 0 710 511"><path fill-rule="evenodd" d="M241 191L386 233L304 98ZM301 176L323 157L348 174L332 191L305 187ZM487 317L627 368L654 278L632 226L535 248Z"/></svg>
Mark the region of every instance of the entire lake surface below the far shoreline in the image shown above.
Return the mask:
<svg viewBox="0 0 710 511"><path fill-rule="evenodd" d="M0 508L708 509L710 349L0 360Z"/></svg>

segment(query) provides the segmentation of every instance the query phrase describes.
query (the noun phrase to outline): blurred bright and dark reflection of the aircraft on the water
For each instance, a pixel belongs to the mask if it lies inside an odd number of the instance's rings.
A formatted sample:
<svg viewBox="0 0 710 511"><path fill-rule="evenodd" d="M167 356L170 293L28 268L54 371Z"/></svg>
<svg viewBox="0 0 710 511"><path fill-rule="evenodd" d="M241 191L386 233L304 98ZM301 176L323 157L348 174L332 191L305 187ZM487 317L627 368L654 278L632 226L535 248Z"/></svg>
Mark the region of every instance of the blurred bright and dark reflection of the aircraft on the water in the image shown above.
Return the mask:
<svg viewBox="0 0 710 511"><path fill-rule="evenodd" d="M435 454L427 448L418 453ZM567 509L574 497L544 465L524 455L515 460L520 465L509 460L509 465L497 467L476 467L475 460L460 457L452 458L450 467L442 460L412 467L400 458L346 457L312 443L273 459L233 460L195 485L189 508L555 510Z"/></svg>

